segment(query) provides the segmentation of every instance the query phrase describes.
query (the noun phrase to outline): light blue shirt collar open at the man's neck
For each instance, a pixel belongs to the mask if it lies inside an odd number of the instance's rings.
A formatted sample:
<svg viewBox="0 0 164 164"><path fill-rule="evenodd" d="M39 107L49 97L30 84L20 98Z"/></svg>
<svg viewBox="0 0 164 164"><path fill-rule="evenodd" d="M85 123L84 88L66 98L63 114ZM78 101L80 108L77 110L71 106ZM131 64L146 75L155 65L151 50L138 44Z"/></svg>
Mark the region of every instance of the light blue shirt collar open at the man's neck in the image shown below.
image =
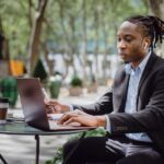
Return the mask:
<svg viewBox="0 0 164 164"><path fill-rule="evenodd" d="M144 59L143 59L143 60L141 61L141 63L136 68L136 70L140 70L141 73L142 73L143 70L144 70L144 68L145 68L145 66L147 66L147 62L148 62L150 56L151 56L151 51L149 51L149 54L144 57ZM126 71L127 74L130 74L132 70L133 70L133 69L132 69L132 67L131 67L131 62L130 62L130 63L127 63L127 65L125 66L125 71Z"/></svg>

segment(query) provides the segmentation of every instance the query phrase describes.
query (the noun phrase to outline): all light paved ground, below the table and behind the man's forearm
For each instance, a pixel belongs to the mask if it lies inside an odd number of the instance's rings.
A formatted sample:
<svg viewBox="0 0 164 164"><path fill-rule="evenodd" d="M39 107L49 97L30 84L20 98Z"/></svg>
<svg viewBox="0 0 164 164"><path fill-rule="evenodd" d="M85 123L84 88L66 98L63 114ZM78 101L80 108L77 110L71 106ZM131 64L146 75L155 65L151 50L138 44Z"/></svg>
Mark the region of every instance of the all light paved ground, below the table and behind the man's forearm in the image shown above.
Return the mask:
<svg viewBox="0 0 164 164"><path fill-rule="evenodd" d="M66 103L86 104L97 99L106 89L99 87L97 93L84 94L79 97L71 97L65 89L61 90L59 99ZM22 112L20 109L11 109L14 113ZM42 136L40 137L40 157L39 164L45 164L47 160L51 160L56 150L61 147L70 136ZM4 156L8 164L35 164L35 139L32 136L7 136L0 134L0 153ZM2 162L0 161L0 164Z"/></svg>

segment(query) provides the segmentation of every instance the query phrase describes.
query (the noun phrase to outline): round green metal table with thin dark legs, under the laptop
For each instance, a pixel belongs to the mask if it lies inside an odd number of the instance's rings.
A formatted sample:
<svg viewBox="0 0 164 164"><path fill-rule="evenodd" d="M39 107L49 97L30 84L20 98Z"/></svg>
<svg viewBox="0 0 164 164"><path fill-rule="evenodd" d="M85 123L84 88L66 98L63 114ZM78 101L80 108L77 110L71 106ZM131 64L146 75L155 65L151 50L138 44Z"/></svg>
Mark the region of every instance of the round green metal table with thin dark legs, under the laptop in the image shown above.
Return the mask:
<svg viewBox="0 0 164 164"><path fill-rule="evenodd" d="M3 134L21 134L21 136L34 136L36 140L36 156L35 156L35 164L39 164L39 136L51 136L51 134L72 134L72 133L79 133L83 132L80 141L85 136L85 131L89 129L80 129L80 130L57 130L57 131L43 131L36 128L33 128L25 122L9 122L5 125L0 125L0 133ZM78 144L79 145L79 144ZM70 152L69 156L67 156L67 160L71 156L73 151L78 148L78 145L74 147L74 149ZM2 154L0 154L0 160L3 162L3 164L8 164ZM66 161L67 161L66 160Z"/></svg>

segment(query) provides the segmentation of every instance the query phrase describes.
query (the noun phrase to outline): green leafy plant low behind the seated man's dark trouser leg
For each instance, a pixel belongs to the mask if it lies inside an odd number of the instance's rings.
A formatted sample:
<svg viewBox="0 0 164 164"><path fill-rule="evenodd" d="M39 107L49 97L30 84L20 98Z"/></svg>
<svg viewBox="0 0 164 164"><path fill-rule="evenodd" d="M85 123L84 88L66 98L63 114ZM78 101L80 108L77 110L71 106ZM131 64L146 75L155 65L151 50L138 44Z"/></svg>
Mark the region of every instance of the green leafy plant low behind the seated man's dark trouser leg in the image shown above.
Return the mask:
<svg viewBox="0 0 164 164"><path fill-rule="evenodd" d="M69 140L79 139L82 133L72 136ZM86 132L85 137L104 137L106 136L106 131L104 128L97 128L95 130L90 130ZM59 148L54 160L47 161L46 164L61 164L62 163L62 148Z"/></svg>

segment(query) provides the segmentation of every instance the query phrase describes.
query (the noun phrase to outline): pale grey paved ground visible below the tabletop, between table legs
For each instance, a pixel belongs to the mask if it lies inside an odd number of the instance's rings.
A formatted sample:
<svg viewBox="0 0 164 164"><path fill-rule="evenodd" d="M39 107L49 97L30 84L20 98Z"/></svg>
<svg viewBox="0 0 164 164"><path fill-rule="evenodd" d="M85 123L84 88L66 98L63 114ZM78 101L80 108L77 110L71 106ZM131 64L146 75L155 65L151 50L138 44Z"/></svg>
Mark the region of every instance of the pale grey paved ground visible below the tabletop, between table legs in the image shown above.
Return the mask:
<svg viewBox="0 0 164 164"><path fill-rule="evenodd" d="M67 141L68 136L40 137L39 163L51 160L56 150ZM0 153L8 164L34 164L35 139L32 136L1 136ZM0 162L1 164L1 162Z"/></svg>

